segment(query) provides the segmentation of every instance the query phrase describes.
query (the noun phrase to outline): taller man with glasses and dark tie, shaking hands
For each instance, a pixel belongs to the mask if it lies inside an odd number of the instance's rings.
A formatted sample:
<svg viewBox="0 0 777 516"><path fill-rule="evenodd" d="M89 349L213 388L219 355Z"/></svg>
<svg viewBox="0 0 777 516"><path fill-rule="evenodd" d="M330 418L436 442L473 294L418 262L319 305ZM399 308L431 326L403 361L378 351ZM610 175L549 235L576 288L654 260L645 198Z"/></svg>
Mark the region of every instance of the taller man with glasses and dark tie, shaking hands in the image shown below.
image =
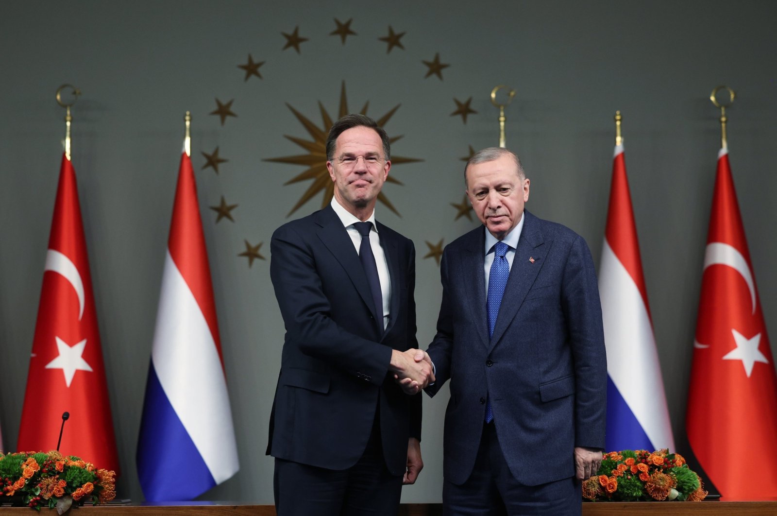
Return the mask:
<svg viewBox="0 0 777 516"><path fill-rule="evenodd" d="M279 516L395 516L402 483L415 482L421 399L434 379L414 361L413 242L375 221L389 176L389 137L347 115L326 141L334 198L282 225L270 277L286 336L268 455Z"/></svg>

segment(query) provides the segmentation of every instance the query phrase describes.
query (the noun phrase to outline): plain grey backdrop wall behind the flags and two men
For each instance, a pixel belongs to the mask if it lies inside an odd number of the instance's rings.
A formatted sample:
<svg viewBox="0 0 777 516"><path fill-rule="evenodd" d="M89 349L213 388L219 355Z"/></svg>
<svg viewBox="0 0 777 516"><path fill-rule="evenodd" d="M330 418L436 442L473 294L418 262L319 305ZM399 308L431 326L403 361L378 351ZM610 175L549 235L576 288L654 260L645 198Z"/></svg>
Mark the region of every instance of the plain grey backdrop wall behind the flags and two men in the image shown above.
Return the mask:
<svg viewBox="0 0 777 516"><path fill-rule="evenodd" d="M517 89L507 144L531 178L528 209L585 237L598 263L605 227L615 110L624 114L626 163L658 351L678 451L689 455L685 399L709 221L718 113L706 97L737 89L730 159L767 325L777 306L775 43L773 2L5 2L0 8L0 426L14 450L43 277L64 131L54 91L83 91L74 110L78 174L103 354L124 475L120 497L141 499L134 467L145 377L175 188L183 112L193 112L193 163L211 259L241 471L208 499L272 500L264 454L283 326L269 262L236 256L263 242L309 182L284 186L301 166L263 159L304 154L309 139L284 103L321 126L336 117L340 85L351 110L403 134L385 193L402 217L378 218L416 242L418 336L428 343L441 289L426 241L475 226L462 200L468 145L497 144L488 94ZM357 36L331 36L353 18ZM404 50L378 40L405 32ZM282 50L299 26L301 54ZM439 52L444 80L424 78ZM267 61L243 81L247 54ZM467 124L453 99L472 96ZM214 98L234 99L224 127ZM200 170L200 152L229 159ZM216 225L221 196L235 222ZM321 196L296 215L319 207ZM444 398L444 397L443 397ZM424 400L426 468L405 501L441 499L444 399Z"/></svg>

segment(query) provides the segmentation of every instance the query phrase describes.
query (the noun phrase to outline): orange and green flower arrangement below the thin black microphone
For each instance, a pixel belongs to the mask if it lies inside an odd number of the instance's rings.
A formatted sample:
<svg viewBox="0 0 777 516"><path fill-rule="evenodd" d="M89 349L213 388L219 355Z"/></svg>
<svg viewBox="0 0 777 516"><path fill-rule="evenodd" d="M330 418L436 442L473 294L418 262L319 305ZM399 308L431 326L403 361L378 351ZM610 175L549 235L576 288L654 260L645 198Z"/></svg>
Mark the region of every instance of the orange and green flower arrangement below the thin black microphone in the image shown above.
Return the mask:
<svg viewBox="0 0 777 516"><path fill-rule="evenodd" d="M116 473L96 469L89 462L59 451L0 452L0 503L17 497L40 511L48 507L67 511L71 504L105 504L116 496Z"/></svg>

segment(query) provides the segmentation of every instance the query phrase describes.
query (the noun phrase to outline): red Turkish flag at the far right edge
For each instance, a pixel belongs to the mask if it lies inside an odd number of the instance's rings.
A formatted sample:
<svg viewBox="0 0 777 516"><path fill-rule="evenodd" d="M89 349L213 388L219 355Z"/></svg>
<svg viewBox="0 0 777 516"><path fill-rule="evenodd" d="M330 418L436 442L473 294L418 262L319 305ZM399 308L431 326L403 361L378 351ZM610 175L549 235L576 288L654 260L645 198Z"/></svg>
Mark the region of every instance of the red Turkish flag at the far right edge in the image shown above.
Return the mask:
<svg viewBox="0 0 777 516"><path fill-rule="evenodd" d="M721 497L777 494L777 379L734 191L718 170L688 391L688 441Z"/></svg>

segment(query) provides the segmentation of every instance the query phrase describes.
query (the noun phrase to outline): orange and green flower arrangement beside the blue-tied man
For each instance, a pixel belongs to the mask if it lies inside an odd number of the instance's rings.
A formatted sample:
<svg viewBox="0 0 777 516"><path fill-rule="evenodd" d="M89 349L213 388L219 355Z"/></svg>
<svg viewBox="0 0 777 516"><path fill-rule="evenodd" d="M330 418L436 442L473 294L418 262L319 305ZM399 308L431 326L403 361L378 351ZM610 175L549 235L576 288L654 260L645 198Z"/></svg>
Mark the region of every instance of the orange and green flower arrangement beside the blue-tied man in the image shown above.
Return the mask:
<svg viewBox="0 0 777 516"><path fill-rule="evenodd" d="M583 482L588 501L701 501L702 479L669 450L623 450L605 453L595 476Z"/></svg>

